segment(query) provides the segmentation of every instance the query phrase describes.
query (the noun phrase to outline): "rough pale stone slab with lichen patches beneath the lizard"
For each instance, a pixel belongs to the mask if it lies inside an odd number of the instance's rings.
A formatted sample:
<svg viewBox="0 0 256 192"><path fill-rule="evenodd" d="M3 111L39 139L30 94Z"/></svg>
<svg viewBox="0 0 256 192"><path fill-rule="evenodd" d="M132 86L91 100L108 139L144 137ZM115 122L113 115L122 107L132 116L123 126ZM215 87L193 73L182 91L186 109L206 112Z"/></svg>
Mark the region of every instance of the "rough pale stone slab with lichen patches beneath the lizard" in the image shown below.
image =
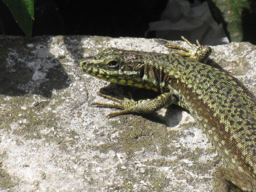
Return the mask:
<svg viewBox="0 0 256 192"><path fill-rule="evenodd" d="M169 53L153 39L0 36L0 191L211 191L223 165L188 111L107 119L116 109L90 106L111 102L98 91L154 97L79 69L82 57L108 47ZM255 46L212 49L208 64L255 93Z"/></svg>

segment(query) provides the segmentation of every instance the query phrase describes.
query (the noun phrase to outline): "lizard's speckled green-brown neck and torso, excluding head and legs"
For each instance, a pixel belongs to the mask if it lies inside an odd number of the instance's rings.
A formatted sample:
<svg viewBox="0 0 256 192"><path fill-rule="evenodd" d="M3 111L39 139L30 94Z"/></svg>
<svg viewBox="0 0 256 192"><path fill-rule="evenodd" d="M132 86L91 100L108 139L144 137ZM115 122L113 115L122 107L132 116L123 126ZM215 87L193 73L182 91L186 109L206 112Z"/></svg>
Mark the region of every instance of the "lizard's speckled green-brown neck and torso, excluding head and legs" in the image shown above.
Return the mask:
<svg viewBox="0 0 256 192"><path fill-rule="evenodd" d="M230 74L180 56L141 52L143 83L190 111L223 163L256 175L256 98Z"/></svg>

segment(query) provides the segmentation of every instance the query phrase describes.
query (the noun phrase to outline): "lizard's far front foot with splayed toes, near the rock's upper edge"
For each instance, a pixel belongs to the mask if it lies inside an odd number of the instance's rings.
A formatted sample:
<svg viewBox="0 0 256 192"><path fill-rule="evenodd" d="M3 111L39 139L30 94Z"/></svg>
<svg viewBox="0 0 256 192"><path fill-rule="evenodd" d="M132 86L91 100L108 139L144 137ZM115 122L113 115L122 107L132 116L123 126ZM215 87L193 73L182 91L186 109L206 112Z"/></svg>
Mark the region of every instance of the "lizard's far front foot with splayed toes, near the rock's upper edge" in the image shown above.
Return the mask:
<svg viewBox="0 0 256 192"><path fill-rule="evenodd" d="M201 46L199 41L196 40L197 46L194 46L191 42L189 42L185 37L181 36L181 38L191 47L190 49L178 46L171 43L166 43L165 46L168 48L175 48L179 50L183 50L185 52L172 52L174 55L179 55L183 57L188 57L191 60L199 61L201 63L206 63L208 57L211 54L211 48L209 46Z"/></svg>

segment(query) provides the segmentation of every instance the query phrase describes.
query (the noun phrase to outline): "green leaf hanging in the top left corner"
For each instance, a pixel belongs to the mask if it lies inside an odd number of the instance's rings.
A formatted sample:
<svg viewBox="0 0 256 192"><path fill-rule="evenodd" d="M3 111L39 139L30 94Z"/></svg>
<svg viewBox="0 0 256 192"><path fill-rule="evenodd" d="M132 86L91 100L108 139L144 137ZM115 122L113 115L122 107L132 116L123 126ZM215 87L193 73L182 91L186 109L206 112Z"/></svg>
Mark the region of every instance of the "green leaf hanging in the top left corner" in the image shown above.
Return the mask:
<svg viewBox="0 0 256 192"><path fill-rule="evenodd" d="M13 14L19 27L31 37L34 20L34 0L3 0Z"/></svg>

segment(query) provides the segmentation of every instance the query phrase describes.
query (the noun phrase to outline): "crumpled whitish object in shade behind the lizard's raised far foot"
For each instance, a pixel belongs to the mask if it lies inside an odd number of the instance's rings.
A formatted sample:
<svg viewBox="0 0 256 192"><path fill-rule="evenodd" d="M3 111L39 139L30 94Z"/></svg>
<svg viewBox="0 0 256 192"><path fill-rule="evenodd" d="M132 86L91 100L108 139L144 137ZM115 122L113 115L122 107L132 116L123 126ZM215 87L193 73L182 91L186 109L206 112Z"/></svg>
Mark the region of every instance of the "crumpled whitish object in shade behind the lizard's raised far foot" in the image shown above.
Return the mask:
<svg viewBox="0 0 256 192"><path fill-rule="evenodd" d="M198 39L203 45L229 43L222 24L212 18L207 2L169 0L161 19L149 25L149 31L156 31L156 38L180 40L182 35L192 43Z"/></svg>

